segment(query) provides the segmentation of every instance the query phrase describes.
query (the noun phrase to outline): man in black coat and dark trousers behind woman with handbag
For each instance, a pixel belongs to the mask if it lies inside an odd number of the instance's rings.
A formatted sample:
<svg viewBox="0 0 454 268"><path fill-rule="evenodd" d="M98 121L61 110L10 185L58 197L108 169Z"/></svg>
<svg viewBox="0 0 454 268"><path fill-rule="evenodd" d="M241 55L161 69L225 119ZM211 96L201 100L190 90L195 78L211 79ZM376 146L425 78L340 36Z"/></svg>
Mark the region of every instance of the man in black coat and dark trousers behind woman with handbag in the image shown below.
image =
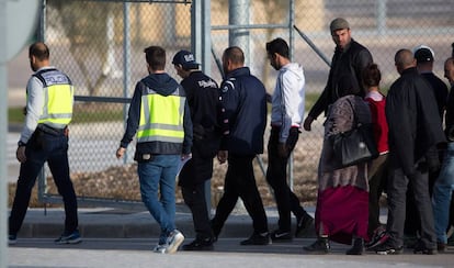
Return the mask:
<svg viewBox="0 0 454 268"><path fill-rule="evenodd" d="M404 252L404 225L408 183L413 186L413 197L421 223L421 236L413 253L436 254L436 237L428 189L428 155L430 147L445 145L436 103L430 85L416 68L409 49L399 49L395 65L400 74L390 87L386 99L386 120L389 127L389 177L387 183L388 239L374 250L377 254Z"/></svg>

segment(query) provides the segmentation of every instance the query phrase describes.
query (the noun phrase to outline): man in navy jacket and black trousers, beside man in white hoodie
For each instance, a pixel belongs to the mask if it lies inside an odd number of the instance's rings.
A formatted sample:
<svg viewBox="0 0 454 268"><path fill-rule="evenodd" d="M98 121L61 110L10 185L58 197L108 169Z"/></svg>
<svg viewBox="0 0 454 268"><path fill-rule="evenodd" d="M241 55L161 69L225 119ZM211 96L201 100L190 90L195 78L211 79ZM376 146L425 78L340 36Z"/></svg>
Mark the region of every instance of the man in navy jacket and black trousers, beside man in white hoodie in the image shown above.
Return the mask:
<svg viewBox="0 0 454 268"><path fill-rule="evenodd" d="M271 244L268 220L257 188L252 160L263 153L266 125L266 92L263 83L245 67L245 54L237 46L223 54L226 78L220 85L223 138L217 158L228 159L224 194L212 220L215 237L241 198L252 217L253 234L241 245Z"/></svg>

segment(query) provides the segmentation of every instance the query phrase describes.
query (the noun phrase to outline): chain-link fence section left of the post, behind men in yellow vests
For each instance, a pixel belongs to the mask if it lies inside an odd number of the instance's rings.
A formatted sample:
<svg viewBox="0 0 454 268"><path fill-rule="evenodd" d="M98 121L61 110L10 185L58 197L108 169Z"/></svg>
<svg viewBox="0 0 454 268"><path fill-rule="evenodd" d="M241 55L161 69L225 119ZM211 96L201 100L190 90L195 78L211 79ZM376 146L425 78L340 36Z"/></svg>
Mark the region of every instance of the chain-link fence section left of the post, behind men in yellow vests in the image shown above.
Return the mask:
<svg viewBox="0 0 454 268"><path fill-rule="evenodd" d="M69 159L79 199L106 205L139 201L134 144L124 159L115 157L127 103L148 74L145 47L164 47L168 63L178 49L191 48L191 2L47 0L43 38L53 65L75 85ZM167 69L177 78L170 65ZM58 201L52 180L41 189L45 202Z"/></svg>

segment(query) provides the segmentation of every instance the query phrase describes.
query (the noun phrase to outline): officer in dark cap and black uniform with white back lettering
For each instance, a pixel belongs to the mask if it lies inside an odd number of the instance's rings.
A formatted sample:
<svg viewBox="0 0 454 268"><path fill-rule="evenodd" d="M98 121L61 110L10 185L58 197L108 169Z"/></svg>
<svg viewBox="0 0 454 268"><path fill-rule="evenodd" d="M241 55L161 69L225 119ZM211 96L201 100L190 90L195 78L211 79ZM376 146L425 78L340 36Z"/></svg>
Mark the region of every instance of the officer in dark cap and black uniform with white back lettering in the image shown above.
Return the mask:
<svg viewBox="0 0 454 268"><path fill-rule="evenodd" d="M178 52L172 60L177 74L183 78L193 124L192 158L183 166L179 186L184 202L192 212L195 239L183 250L213 250L213 232L206 204L205 182L213 175L213 158L219 147L217 127L219 89L217 83L198 70L195 57L188 51Z"/></svg>

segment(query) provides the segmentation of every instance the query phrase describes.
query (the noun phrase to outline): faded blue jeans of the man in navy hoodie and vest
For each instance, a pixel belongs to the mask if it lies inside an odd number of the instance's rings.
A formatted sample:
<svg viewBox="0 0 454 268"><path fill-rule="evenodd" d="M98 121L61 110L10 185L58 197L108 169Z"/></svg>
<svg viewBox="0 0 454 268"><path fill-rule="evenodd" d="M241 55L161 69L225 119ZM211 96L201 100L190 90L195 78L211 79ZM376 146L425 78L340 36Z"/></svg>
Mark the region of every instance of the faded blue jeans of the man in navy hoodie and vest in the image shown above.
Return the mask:
<svg viewBox="0 0 454 268"><path fill-rule="evenodd" d="M175 230L175 177L180 155L155 155L138 163L141 201L161 226L159 244ZM159 196L160 194L160 196Z"/></svg>

